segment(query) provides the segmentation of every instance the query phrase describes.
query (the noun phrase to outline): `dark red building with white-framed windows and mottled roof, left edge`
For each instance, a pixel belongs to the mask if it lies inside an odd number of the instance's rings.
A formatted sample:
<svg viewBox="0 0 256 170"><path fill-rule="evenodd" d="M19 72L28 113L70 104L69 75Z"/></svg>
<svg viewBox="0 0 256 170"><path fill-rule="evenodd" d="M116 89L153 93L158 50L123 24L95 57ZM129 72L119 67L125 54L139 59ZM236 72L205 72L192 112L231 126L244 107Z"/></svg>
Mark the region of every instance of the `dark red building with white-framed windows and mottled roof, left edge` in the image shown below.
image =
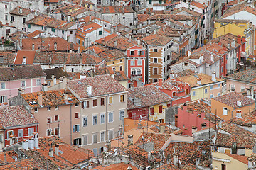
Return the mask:
<svg viewBox="0 0 256 170"><path fill-rule="evenodd" d="M23 106L0 108L0 124L4 128L4 146L21 142L38 132L38 120Z"/></svg>

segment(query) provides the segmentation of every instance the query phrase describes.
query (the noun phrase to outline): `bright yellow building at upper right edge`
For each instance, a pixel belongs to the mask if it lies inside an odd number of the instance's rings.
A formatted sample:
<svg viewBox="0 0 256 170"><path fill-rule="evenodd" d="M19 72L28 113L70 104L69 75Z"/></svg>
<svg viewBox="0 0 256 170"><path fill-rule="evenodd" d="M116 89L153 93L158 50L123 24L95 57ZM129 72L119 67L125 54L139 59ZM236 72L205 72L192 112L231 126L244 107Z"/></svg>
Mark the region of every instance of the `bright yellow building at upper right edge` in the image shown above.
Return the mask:
<svg viewBox="0 0 256 170"><path fill-rule="evenodd" d="M244 37L246 40L245 52L247 55L253 55L254 42L252 42L252 40L254 30L253 27L250 26L250 22L248 20L215 19L213 38L217 38L228 33Z"/></svg>

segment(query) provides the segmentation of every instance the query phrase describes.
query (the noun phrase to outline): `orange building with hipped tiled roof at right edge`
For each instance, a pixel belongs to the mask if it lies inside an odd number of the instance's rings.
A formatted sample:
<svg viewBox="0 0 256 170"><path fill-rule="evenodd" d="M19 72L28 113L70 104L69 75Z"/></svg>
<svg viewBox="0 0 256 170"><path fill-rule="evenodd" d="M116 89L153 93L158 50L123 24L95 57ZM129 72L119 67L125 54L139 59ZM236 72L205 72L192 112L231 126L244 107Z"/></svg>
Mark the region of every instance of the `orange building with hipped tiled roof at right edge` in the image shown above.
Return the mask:
<svg viewBox="0 0 256 170"><path fill-rule="evenodd" d="M230 92L211 99L211 111L223 120L241 117L255 108L255 101L237 92Z"/></svg>

